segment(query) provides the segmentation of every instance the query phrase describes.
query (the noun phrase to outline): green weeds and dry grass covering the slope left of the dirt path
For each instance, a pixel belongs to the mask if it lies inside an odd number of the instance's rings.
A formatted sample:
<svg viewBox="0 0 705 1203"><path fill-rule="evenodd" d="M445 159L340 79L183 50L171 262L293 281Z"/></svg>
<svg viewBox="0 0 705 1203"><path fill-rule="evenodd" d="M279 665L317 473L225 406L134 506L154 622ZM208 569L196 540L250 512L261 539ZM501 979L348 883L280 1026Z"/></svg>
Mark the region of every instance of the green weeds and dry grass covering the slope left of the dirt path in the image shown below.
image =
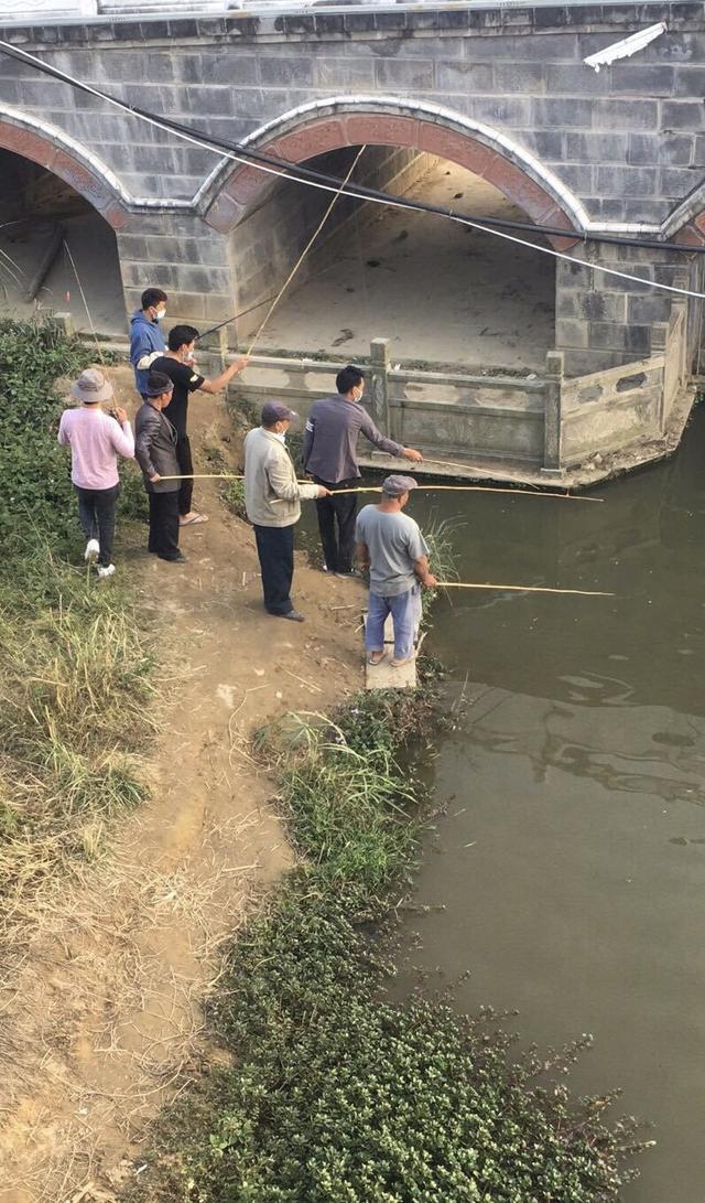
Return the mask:
<svg viewBox="0 0 705 1203"><path fill-rule="evenodd" d="M50 325L0 324L0 938L20 938L37 888L145 796L151 657L129 586L83 564L56 444L54 381L91 358Z"/></svg>

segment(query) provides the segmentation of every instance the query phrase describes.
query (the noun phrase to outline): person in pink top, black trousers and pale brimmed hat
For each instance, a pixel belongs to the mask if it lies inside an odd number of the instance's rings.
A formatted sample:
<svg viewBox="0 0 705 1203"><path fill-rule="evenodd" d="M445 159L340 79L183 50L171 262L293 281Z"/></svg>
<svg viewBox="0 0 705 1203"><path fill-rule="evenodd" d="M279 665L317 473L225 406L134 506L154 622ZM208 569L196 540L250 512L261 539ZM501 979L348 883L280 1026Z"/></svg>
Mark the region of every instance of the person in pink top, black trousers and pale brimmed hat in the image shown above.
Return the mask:
<svg viewBox="0 0 705 1203"><path fill-rule="evenodd" d="M98 576L112 576L110 562L115 533L115 505L120 492L118 456L135 457L132 428L124 409L114 416L101 409L112 401L113 386L97 368L88 368L71 386L80 402L66 409L59 423L59 443L71 448L71 480L78 493L78 517L88 543L84 558L97 559Z"/></svg>

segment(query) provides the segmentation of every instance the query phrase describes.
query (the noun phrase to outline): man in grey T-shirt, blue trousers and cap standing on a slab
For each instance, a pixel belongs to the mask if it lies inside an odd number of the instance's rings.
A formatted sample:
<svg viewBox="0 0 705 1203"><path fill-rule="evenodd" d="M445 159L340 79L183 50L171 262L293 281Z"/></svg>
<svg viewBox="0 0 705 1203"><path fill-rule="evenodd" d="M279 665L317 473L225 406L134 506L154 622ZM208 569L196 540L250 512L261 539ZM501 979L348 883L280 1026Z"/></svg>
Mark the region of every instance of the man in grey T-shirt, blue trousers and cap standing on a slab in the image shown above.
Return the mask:
<svg viewBox="0 0 705 1203"><path fill-rule="evenodd" d="M420 587L431 589L437 583L429 571L429 549L418 523L402 514L412 488L417 488L413 476L387 476L382 482L382 500L365 505L356 526L357 559L370 573L368 660L380 664L384 659L384 623L392 615L394 656L389 663L394 669L416 656Z"/></svg>

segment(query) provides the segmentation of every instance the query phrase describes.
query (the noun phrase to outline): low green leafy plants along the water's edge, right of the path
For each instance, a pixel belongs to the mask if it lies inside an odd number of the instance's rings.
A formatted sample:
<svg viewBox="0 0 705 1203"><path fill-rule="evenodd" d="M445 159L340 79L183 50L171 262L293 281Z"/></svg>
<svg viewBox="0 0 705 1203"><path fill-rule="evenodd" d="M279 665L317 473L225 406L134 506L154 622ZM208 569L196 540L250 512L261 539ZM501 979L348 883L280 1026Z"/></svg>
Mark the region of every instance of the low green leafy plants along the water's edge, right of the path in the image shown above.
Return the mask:
<svg viewBox="0 0 705 1203"><path fill-rule="evenodd" d="M576 1048L518 1062L489 1014L384 1001L376 929L407 888L432 704L363 694L261 731L298 866L232 948L213 1001L232 1067L159 1124L131 1203L607 1203L633 1125L575 1102ZM390 894L393 891L393 895Z"/></svg>

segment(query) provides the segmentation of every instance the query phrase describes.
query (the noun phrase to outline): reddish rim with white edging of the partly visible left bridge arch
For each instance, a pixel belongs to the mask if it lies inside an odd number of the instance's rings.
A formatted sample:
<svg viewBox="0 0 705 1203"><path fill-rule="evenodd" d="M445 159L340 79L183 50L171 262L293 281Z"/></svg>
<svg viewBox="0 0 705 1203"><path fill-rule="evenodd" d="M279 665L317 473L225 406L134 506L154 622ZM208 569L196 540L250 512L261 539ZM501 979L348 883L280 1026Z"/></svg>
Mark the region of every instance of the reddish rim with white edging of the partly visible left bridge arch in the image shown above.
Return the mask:
<svg viewBox="0 0 705 1203"><path fill-rule="evenodd" d="M130 197L116 176L58 126L0 105L0 149L30 159L83 196L113 227L129 221Z"/></svg>

